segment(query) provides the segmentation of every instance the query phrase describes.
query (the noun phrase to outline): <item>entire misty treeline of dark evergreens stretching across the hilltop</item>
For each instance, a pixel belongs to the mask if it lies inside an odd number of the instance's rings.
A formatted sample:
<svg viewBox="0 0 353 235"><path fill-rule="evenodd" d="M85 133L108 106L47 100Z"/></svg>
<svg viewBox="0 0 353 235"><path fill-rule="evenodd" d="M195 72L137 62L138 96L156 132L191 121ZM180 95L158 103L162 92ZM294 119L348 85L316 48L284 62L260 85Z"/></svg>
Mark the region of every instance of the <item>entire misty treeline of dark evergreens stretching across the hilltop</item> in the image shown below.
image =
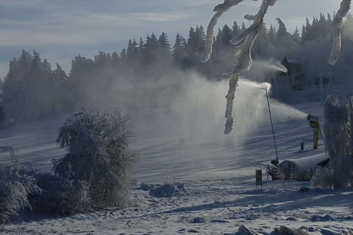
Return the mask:
<svg viewBox="0 0 353 235"><path fill-rule="evenodd" d="M306 18L301 33L298 28L289 33L281 19L276 21L278 29L272 24L262 28L251 51L255 60L281 60L286 55L297 57L308 77L333 72L343 81L353 74L351 14L343 25L344 50L335 67L325 61L331 49L330 14L325 17L321 13L311 22ZM190 27L187 38L177 33L173 42L164 32L160 36L151 33L146 38L128 40L127 48L120 53L99 51L94 60L78 55L72 60L69 75L59 64L52 70L37 52L32 56L23 50L19 58L10 61L3 84L1 99L6 119L38 120L78 106L97 106L101 104L98 100L110 99L110 95L126 84L175 80L171 74L176 70L197 70L206 78L215 79L232 67L234 46L229 41L245 29L244 23L239 26L236 21L232 26L219 28L211 59L206 63L200 62L205 44L202 25Z"/></svg>

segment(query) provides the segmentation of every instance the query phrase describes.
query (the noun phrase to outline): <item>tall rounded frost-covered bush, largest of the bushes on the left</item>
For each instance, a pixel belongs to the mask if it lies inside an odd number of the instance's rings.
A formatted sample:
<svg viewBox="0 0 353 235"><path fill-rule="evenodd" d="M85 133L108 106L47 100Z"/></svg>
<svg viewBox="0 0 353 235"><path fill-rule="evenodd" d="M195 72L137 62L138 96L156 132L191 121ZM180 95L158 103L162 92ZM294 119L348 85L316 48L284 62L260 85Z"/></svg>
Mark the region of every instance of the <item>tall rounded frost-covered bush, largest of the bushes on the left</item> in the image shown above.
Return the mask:
<svg viewBox="0 0 353 235"><path fill-rule="evenodd" d="M122 195L130 183L130 167L137 160L137 152L129 147L135 135L128 120L120 111L91 109L69 116L56 140L61 148L67 148L67 154L53 159L54 173L90 182L96 203L122 206Z"/></svg>

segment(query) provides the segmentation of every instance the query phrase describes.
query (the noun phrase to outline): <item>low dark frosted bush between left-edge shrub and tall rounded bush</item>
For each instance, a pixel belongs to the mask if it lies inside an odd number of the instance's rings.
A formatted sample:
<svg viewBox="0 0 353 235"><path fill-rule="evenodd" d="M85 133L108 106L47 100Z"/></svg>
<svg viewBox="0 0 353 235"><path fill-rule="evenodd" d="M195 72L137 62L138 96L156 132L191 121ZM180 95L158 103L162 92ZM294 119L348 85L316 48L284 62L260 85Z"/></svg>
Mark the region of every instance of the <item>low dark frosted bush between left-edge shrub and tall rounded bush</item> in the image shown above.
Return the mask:
<svg viewBox="0 0 353 235"><path fill-rule="evenodd" d="M29 198L33 212L65 216L91 209L90 185L86 181L68 180L52 174L35 174L34 177L44 191Z"/></svg>

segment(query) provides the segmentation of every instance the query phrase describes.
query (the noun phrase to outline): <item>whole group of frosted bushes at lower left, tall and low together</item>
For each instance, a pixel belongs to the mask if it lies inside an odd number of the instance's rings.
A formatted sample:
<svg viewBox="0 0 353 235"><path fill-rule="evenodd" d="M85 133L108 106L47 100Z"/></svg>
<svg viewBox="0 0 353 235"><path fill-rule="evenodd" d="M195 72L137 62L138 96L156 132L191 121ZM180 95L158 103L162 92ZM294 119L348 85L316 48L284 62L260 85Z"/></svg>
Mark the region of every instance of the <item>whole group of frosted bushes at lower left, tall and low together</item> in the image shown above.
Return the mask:
<svg viewBox="0 0 353 235"><path fill-rule="evenodd" d="M22 209L64 216L132 205L126 193L137 152L128 146L134 139L128 120L120 111L84 109L68 117L57 139L67 154L52 161L56 175L37 174L16 157L0 165L0 220L8 222Z"/></svg>

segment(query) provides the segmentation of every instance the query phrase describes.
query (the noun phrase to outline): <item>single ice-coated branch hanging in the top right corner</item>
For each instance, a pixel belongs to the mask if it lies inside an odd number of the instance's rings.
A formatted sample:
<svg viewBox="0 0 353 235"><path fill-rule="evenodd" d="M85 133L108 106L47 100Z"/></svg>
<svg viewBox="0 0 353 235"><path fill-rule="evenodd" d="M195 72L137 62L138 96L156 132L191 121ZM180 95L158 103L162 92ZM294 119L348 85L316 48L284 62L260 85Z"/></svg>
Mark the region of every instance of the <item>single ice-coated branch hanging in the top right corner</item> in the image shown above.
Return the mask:
<svg viewBox="0 0 353 235"><path fill-rule="evenodd" d="M341 27L343 18L346 17L349 8L351 8L351 0L342 0L341 7L332 21L333 28L333 47L327 63L334 65L338 60L341 52Z"/></svg>

